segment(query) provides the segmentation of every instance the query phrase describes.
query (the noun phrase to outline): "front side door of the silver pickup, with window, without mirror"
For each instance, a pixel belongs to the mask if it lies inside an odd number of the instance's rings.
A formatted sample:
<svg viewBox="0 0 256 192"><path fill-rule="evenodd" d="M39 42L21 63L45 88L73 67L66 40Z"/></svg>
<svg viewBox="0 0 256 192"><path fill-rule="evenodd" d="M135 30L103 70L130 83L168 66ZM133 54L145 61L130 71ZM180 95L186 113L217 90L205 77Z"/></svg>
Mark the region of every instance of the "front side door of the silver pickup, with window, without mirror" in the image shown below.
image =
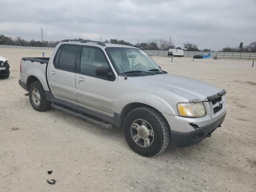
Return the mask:
<svg viewBox="0 0 256 192"><path fill-rule="evenodd" d="M76 74L76 97L78 103L89 110L113 117L117 78L96 76L98 67L112 70L104 51L94 46L80 49L80 62Z"/></svg>

